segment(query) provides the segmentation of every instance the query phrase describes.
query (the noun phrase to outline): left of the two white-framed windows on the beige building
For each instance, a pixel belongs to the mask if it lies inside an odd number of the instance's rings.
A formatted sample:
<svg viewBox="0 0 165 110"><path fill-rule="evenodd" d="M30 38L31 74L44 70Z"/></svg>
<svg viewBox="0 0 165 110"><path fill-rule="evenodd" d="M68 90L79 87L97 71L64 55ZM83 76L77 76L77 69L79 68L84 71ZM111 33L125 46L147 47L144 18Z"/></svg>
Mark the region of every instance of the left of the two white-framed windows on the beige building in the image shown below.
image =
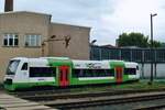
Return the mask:
<svg viewBox="0 0 165 110"><path fill-rule="evenodd" d="M18 34L4 34L3 45L4 46L18 46L19 35Z"/></svg>

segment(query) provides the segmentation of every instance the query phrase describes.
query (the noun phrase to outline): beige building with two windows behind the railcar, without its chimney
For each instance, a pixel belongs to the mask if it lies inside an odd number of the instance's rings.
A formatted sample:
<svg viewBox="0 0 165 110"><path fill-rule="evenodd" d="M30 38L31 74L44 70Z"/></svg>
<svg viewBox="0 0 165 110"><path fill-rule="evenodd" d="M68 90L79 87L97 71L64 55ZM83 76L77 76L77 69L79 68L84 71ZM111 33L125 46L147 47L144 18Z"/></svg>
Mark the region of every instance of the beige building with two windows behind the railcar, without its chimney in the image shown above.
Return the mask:
<svg viewBox="0 0 165 110"><path fill-rule="evenodd" d="M0 81L12 57L89 59L90 28L54 23L51 18L28 11L0 13Z"/></svg>

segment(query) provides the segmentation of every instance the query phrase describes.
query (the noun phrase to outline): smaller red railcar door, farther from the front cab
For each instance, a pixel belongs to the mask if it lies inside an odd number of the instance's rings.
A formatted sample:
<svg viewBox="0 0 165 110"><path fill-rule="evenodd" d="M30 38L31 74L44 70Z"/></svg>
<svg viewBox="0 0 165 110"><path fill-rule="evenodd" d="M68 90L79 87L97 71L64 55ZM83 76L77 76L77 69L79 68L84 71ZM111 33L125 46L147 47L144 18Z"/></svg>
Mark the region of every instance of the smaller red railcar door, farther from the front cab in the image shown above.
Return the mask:
<svg viewBox="0 0 165 110"><path fill-rule="evenodd" d="M122 77L123 77L123 68L116 67L116 79L118 84L122 82Z"/></svg>

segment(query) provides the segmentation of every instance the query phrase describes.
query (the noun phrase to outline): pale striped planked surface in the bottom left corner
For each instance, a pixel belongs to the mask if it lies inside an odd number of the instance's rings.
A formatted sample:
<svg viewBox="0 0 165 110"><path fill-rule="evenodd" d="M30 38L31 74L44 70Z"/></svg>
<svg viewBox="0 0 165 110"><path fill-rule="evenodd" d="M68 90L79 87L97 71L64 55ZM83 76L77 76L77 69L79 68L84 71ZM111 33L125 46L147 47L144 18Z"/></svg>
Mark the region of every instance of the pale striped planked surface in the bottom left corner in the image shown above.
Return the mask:
<svg viewBox="0 0 165 110"><path fill-rule="evenodd" d="M0 92L0 110L57 110L57 109L46 107L37 102L20 99L6 92Z"/></svg>

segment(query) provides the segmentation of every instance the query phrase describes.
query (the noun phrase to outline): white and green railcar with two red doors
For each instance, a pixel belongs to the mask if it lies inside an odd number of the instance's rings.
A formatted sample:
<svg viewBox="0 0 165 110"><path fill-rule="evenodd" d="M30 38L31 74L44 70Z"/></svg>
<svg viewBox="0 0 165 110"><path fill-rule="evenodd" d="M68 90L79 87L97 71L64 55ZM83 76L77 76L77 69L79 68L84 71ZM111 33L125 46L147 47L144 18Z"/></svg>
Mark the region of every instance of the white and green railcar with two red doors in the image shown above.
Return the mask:
<svg viewBox="0 0 165 110"><path fill-rule="evenodd" d="M15 90L35 86L67 87L124 82L139 78L139 66L131 62L15 57L9 62L4 88Z"/></svg>

